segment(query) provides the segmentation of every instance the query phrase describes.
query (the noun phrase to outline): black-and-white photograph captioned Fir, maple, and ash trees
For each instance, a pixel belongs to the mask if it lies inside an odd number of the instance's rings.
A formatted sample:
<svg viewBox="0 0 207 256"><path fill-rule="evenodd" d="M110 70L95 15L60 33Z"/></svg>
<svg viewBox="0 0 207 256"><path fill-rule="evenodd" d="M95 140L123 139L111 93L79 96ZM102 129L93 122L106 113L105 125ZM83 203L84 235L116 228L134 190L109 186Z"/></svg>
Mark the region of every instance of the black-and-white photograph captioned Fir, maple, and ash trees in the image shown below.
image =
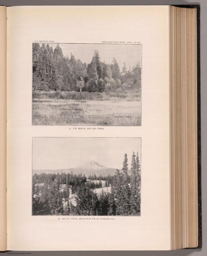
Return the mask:
<svg viewBox="0 0 207 256"><path fill-rule="evenodd" d="M33 125L141 125L141 44L33 43Z"/></svg>

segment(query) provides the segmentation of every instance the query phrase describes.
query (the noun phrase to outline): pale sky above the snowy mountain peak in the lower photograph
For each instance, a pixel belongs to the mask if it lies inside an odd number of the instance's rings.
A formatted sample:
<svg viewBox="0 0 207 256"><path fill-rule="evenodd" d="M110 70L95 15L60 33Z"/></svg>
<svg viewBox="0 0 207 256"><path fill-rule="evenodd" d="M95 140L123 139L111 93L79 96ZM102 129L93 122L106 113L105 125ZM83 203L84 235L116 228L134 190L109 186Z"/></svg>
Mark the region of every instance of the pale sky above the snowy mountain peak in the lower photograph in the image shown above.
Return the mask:
<svg viewBox="0 0 207 256"><path fill-rule="evenodd" d="M131 168L133 151L141 159L141 138L33 138L32 168L68 169L95 161L122 169L125 153Z"/></svg>

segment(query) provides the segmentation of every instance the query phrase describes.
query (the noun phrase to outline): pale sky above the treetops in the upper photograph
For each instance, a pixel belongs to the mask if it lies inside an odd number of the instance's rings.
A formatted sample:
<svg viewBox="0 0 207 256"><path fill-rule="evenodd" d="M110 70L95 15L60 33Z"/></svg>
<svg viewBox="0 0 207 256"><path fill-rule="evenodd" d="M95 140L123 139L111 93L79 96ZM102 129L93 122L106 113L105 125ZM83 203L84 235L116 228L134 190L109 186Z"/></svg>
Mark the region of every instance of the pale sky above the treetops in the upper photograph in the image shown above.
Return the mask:
<svg viewBox="0 0 207 256"><path fill-rule="evenodd" d="M56 45L56 43L49 43L53 50ZM98 50L102 62L111 64L115 57L120 70L122 70L123 62L126 62L127 69L129 69L129 65L132 68L138 62L141 63L142 59L142 46L139 44L59 44L59 46L62 48L64 56L70 57L72 53L76 59L80 59L86 64L91 62L94 50Z"/></svg>

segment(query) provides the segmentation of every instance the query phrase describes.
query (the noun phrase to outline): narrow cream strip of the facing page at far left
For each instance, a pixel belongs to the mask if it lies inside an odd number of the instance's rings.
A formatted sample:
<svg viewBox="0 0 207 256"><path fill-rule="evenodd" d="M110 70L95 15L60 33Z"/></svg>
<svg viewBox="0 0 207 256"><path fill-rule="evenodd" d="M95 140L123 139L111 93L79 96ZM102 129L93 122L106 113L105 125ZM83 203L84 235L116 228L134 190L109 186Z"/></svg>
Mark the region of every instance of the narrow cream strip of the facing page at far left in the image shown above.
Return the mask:
<svg viewBox="0 0 207 256"><path fill-rule="evenodd" d="M6 6L0 6L0 251L7 250L6 211Z"/></svg>

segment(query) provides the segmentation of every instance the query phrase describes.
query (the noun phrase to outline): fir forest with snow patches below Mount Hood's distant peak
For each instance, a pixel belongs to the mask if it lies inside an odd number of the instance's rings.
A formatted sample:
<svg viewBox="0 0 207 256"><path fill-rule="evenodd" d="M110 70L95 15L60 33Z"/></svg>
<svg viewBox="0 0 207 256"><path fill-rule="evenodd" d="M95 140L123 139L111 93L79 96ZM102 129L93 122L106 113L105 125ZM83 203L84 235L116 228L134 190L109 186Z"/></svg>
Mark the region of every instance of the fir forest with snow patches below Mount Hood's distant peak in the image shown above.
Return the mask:
<svg viewBox="0 0 207 256"><path fill-rule="evenodd" d="M125 154L122 171L113 175L34 173L32 214L140 216L140 172L133 153L130 170Z"/></svg>

